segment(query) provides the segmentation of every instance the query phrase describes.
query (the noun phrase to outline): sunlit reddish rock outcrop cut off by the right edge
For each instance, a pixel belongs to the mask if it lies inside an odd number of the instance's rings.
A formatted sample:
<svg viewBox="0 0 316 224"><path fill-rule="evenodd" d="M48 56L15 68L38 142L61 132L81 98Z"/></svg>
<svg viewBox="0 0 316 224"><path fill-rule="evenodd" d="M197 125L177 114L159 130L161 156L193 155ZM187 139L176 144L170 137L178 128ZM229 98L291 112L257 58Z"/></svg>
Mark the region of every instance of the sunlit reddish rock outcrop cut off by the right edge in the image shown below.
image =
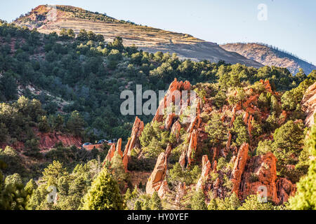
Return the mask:
<svg viewBox="0 0 316 224"><path fill-rule="evenodd" d="M306 90L301 106L306 116L305 125L312 127L315 124L314 117L316 113L316 82Z"/></svg>

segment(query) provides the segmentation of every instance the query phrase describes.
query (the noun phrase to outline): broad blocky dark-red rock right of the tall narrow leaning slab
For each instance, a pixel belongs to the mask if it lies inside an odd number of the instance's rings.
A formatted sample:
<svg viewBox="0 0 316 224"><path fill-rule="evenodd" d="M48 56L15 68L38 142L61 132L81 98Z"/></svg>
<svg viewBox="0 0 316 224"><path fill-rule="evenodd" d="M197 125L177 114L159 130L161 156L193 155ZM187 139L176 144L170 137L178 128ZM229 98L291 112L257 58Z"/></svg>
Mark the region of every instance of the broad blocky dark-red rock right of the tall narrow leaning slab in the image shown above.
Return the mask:
<svg viewBox="0 0 316 224"><path fill-rule="evenodd" d="M273 202L279 203L277 197L277 158L273 153L258 155L251 158L247 169L244 171L244 179L241 184L242 198L258 192L258 188L267 188L268 198Z"/></svg>

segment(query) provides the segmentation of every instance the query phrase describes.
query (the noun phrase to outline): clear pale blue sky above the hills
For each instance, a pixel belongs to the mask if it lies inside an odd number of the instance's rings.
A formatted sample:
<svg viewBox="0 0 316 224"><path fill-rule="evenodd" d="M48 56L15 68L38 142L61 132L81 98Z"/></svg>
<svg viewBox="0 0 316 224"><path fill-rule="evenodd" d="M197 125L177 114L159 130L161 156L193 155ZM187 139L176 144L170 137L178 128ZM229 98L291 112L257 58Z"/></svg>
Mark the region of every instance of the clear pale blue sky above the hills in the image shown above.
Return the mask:
<svg viewBox="0 0 316 224"><path fill-rule="evenodd" d="M11 0L0 2L0 19L11 22L46 3L107 13L218 44L268 43L316 64L315 0Z"/></svg>

